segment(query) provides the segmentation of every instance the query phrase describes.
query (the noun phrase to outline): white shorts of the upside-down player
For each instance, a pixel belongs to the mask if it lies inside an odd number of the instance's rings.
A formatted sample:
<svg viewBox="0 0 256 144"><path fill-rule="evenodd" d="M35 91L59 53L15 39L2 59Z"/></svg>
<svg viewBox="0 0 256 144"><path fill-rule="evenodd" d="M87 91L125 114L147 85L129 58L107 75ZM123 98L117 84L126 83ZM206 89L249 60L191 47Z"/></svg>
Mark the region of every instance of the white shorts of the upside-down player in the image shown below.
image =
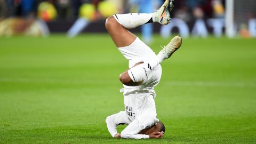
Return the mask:
<svg viewBox="0 0 256 144"><path fill-rule="evenodd" d="M118 47L118 50L127 60L129 60L129 68L133 67L135 63L156 59L155 52L151 50L149 46L143 43L138 37L131 45ZM154 70L152 70L152 73L147 76L147 79L145 79L142 85L153 87L156 86L161 79L161 75L162 67L161 65L158 65Z"/></svg>

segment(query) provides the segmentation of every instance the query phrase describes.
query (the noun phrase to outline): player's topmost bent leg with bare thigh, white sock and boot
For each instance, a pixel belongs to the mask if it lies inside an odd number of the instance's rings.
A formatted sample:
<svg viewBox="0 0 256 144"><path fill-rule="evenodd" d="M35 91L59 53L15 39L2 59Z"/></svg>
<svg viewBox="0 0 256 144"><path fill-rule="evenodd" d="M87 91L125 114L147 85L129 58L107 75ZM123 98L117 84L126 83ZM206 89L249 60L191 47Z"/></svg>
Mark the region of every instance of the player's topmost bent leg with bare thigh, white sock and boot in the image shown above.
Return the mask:
<svg viewBox="0 0 256 144"><path fill-rule="evenodd" d="M106 20L106 29L117 47L132 44L137 38L127 29L135 28L151 22L167 25L170 21L173 0L166 0L163 6L154 13L115 14Z"/></svg>

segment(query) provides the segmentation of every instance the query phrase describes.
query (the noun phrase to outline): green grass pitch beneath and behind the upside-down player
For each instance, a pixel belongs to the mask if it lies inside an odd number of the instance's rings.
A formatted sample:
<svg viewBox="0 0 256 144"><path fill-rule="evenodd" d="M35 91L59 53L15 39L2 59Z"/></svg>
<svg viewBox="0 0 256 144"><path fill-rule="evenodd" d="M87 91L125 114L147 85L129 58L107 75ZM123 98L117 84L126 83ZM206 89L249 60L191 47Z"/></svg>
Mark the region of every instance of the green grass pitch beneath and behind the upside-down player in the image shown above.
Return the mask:
<svg viewBox="0 0 256 144"><path fill-rule="evenodd" d="M107 34L0 38L0 143L256 143L256 39L183 39L155 87L163 139L108 133L127 67Z"/></svg>

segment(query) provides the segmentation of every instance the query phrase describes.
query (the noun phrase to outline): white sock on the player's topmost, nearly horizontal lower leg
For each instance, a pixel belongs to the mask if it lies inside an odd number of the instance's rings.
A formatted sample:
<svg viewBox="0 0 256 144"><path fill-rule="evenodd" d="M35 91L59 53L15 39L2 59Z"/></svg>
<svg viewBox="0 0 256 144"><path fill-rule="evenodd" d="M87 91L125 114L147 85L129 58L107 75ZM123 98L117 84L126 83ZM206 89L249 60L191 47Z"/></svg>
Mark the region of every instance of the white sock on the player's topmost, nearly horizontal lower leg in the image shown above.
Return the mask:
<svg viewBox="0 0 256 144"><path fill-rule="evenodd" d="M127 29L132 29L146 23L156 22L155 13L114 14L113 17Z"/></svg>

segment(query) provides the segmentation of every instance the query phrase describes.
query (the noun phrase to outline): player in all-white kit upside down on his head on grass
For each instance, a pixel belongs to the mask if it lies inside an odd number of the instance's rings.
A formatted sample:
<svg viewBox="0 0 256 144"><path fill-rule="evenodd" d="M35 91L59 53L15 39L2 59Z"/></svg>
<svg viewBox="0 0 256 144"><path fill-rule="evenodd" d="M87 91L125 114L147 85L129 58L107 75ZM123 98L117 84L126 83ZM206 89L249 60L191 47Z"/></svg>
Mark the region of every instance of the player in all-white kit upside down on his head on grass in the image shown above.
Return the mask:
<svg viewBox="0 0 256 144"><path fill-rule="evenodd" d="M167 25L173 0L166 0L155 13L115 14L106 20L106 28L118 50L129 60L129 69L119 76L124 88L125 111L108 116L106 119L109 133L115 138L148 139L162 138L165 127L156 118L154 86L162 75L160 63L171 57L182 43L180 36L175 36L157 55L127 29L150 22ZM117 125L128 126L119 134Z"/></svg>

